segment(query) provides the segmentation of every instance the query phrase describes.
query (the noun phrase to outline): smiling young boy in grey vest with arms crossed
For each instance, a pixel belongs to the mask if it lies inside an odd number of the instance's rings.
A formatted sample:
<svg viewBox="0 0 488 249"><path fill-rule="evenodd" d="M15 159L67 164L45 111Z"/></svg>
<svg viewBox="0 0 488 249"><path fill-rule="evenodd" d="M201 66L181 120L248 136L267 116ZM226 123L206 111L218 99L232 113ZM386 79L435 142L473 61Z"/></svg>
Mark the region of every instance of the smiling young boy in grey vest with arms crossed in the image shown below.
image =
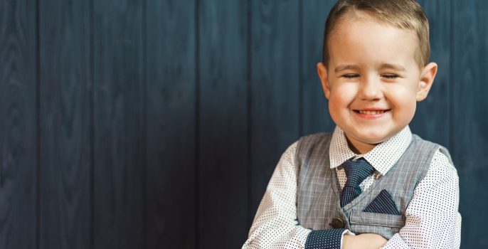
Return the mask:
<svg viewBox="0 0 488 249"><path fill-rule="evenodd" d="M282 155L243 248L459 248L457 171L412 134L437 65L414 0L339 0L317 64L332 134Z"/></svg>

